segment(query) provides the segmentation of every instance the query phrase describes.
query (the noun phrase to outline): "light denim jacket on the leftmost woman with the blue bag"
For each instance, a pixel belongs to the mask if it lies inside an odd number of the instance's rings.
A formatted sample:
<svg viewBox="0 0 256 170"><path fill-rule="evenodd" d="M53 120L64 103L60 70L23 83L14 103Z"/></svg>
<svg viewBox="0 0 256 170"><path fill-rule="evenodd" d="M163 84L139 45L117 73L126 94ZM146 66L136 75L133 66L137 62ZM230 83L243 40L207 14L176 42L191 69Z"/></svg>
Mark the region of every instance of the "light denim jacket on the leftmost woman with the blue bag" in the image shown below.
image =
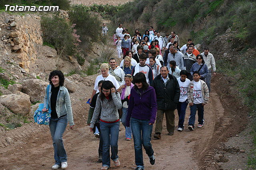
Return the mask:
<svg viewBox="0 0 256 170"><path fill-rule="evenodd" d="M51 95L52 95L52 86L49 87L49 98L48 98L48 106L51 108ZM45 89L45 96L44 96L44 108L47 107L47 87ZM68 93L68 89L63 86L60 86L57 96L56 102L56 112L58 114L58 118L67 114L69 126L74 125L72 108L71 108L71 101L70 96Z"/></svg>

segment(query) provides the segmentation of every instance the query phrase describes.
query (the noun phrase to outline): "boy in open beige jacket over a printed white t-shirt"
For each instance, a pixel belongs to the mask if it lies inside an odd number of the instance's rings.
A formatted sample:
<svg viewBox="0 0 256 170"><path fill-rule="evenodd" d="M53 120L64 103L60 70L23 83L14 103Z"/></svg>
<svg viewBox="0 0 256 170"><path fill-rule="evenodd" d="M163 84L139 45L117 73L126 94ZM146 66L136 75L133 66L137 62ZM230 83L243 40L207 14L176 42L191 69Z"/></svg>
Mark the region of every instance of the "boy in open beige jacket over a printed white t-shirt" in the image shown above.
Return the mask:
<svg viewBox="0 0 256 170"><path fill-rule="evenodd" d="M204 105L208 103L209 90L206 83L200 80L200 72L193 73L193 79L188 85L188 103L190 116L188 119L188 129L194 130L196 120L196 110L198 110L198 128L204 126Z"/></svg>

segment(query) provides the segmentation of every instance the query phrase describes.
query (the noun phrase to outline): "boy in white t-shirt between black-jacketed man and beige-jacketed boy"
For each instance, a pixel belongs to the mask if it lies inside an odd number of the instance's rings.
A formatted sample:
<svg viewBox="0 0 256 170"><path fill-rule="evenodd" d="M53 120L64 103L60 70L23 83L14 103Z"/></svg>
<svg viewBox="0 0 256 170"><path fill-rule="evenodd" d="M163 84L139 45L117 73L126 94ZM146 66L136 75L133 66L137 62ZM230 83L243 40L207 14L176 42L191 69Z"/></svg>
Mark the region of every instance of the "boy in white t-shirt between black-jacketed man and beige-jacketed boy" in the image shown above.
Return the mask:
<svg viewBox="0 0 256 170"><path fill-rule="evenodd" d="M184 128L184 119L186 115L186 108L188 106L188 85L190 80L187 78L187 71L181 70L180 77L178 78L180 85L180 100L177 104L177 110L179 115L178 131L181 132Z"/></svg>

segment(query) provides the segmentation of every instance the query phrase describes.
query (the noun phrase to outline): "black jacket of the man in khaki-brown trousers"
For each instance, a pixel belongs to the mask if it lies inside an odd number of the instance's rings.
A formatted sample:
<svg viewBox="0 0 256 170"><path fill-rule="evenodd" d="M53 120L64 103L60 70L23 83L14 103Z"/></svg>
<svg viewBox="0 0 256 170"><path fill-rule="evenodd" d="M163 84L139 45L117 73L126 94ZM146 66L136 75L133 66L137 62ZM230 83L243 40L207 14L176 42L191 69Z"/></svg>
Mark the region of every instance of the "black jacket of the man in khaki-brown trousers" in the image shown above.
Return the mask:
<svg viewBox="0 0 256 170"><path fill-rule="evenodd" d="M159 110L175 110L180 99L180 86L178 80L168 74L169 80L164 86L161 74L153 80L152 86L156 91L156 103Z"/></svg>

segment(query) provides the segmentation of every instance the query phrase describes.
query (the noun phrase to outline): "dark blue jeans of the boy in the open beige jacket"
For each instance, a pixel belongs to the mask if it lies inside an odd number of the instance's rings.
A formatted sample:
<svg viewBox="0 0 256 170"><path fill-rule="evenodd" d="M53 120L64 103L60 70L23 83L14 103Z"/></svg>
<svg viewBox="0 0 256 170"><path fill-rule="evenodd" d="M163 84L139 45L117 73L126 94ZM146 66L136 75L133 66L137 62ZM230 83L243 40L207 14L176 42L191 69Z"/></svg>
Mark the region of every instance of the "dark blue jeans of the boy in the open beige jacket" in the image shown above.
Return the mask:
<svg viewBox="0 0 256 170"><path fill-rule="evenodd" d="M188 119L188 126L193 126L195 124L196 120L196 109L198 110L198 124L204 124L204 106L202 106L202 103L200 104L193 104L193 106L190 107L190 116Z"/></svg>

